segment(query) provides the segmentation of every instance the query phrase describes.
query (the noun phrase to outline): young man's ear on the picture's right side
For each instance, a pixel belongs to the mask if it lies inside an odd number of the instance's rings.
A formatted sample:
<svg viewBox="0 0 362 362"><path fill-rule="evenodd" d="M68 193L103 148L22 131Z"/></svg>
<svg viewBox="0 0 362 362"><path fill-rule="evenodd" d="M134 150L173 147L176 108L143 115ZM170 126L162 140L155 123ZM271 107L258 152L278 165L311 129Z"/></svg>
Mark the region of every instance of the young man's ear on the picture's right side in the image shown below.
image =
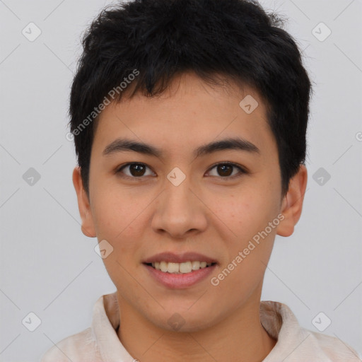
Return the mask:
<svg viewBox="0 0 362 362"><path fill-rule="evenodd" d="M298 223L302 213L307 178L307 168L305 165L300 165L298 173L291 178L288 192L281 203L281 213L284 215L284 219L276 228L278 235L290 236L293 234L294 226Z"/></svg>

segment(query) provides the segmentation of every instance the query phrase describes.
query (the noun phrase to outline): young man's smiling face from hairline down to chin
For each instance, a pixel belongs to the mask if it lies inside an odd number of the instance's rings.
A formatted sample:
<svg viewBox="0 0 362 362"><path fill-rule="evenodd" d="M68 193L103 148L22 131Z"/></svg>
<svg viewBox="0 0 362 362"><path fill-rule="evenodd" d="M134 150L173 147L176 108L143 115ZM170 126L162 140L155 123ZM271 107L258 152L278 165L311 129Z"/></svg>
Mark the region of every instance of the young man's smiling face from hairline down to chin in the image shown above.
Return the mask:
<svg viewBox="0 0 362 362"><path fill-rule="evenodd" d="M250 114L239 105L246 95L258 102ZM291 194L281 197L265 112L251 89L211 88L183 74L163 95L136 95L101 113L89 199L75 182L82 230L112 248L103 261L119 303L153 325L171 330L178 313L183 330L195 331L259 303L275 235L291 234L299 211ZM213 264L165 273L145 264L160 252L199 253L179 260Z"/></svg>

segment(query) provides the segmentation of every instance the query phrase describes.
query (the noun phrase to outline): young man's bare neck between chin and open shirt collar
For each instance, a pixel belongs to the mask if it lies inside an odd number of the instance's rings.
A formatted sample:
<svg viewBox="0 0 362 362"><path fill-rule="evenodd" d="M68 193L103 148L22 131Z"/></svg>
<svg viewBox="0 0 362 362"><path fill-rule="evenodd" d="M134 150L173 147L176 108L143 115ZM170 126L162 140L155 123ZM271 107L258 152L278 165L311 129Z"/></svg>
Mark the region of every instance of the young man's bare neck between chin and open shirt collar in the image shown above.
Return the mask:
<svg viewBox="0 0 362 362"><path fill-rule="evenodd" d="M260 323L259 300L206 329L175 332L146 320L118 295L122 317L117 334L124 348L140 362L183 362L185 358L188 362L259 362L276 344Z"/></svg>

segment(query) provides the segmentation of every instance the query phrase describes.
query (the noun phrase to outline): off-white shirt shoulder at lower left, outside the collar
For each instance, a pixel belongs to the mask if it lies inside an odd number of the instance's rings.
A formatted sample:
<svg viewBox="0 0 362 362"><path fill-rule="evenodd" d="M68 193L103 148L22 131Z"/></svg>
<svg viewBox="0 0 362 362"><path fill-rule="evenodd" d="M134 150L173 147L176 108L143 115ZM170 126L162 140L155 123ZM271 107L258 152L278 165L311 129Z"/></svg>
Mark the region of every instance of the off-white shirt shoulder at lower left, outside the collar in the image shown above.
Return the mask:
<svg viewBox="0 0 362 362"><path fill-rule="evenodd" d="M42 355L40 362L95 361L95 358L100 358L98 354L98 346L89 327L54 344Z"/></svg>

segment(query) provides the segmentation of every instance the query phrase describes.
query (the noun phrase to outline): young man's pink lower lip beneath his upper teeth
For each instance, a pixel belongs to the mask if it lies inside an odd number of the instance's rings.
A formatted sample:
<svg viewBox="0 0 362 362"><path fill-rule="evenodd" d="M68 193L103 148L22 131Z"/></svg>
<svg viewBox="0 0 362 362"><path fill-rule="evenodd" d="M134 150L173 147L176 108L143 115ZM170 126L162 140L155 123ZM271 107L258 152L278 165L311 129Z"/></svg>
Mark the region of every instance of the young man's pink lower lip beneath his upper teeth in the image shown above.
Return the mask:
<svg viewBox="0 0 362 362"><path fill-rule="evenodd" d="M214 271L216 264L211 265L211 267L190 271L189 273L184 274L165 273L164 271L157 270L149 265L144 264L144 266L151 276L164 286L167 286L168 288L181 289L193 286L199 281L205 279Z"/></svg>

